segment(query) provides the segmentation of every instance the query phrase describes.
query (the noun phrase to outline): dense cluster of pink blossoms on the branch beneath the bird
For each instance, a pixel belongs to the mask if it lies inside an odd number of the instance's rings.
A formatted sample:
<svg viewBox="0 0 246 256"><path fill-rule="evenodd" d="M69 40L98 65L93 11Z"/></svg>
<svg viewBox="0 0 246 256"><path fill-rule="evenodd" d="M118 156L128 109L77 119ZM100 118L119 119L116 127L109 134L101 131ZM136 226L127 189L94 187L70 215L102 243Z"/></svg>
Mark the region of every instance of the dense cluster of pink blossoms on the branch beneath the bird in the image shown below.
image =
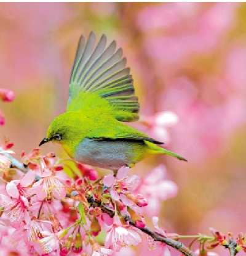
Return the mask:
<svg viewBox="0 0 246 256"><path fill-rule="evenodd" d="M152 209L158 213L158 200L177 194L175 183L164 180L163 166L143 179L129 176L128 167L120 168L116 176L98 177L87 165L34 149L22 153L25 169L20 170L3 155L14 153L12 146L6 141L0 152L2 255L114 255L142 241L143 214L153 215L148 202L154 200ZM153 220L160 231L156 217ZM165 244L161 247L169 250Z"/></svg>

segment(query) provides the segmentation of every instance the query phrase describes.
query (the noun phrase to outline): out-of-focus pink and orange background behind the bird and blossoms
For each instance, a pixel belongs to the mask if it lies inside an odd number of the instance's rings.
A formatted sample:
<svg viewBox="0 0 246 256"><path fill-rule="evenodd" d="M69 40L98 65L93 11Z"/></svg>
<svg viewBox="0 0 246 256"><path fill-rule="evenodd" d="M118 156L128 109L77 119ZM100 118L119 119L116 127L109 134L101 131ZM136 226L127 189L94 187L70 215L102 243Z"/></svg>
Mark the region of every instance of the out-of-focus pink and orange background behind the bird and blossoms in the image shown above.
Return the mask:
<svg viewBox="0 0 246 256"><path fill-rule="evenodd" d="M178 117L162 141L188 163L150 157L132 169L144 177L162 163L178 185L161 206L159 225L183 235L210 235L210 226L245 233L245 3L1 3L0 87L16 94L0 106L1 140L14 142L17 159L38 146L66 110L77 41L92 30L122 47L140 114ZM52 143L42 151L66 156Z"/></svg>

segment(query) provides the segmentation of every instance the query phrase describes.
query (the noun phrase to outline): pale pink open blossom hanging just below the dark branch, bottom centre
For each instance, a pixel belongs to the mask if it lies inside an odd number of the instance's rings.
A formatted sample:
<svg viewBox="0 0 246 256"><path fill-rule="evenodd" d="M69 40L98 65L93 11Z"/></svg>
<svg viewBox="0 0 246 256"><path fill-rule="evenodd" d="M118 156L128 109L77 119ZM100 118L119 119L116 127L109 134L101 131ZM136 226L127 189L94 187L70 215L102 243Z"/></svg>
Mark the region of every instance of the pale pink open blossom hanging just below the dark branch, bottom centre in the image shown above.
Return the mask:
<svg viewBox="0 0 246 256"><path fill-rule="evenodd" d="M105 239L105 247L119 252L123 246L137 246L140 242L138 229L129 225L123 226L119 216L114 216L113 225Z"/></svg>

